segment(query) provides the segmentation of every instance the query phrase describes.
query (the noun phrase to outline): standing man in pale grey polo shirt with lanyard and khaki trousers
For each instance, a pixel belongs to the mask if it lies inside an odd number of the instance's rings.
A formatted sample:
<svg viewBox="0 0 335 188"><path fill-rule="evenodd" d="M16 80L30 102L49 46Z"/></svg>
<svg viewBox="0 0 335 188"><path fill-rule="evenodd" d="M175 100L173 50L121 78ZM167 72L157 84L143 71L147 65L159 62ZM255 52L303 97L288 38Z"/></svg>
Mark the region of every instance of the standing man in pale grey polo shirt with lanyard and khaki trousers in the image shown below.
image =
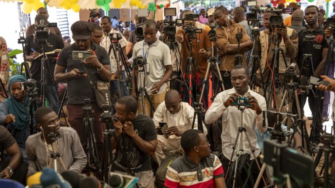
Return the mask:
<svg viewBox="0 0 335 188"><path fill-rule="evenodd" d="M172 75L170 49L167 44L156 38L156 34L156 22L154 20L146 20L143 25L144 40L137 42L132 52L133 59L138 56L146 59L144 66L146 66L147 73L144 76L145 83L143 87L146 87L154 109L164 101L167 88L166 82ZM140 87L141 79L143 78L138 78L138 69L139 67L135 66L132 74L136 76L137 86ZM136 88L135 79L132 79L132 88ZM136 96L135 89L132 90L131 96ZM138 111L140 113L143 112L141 97L144 97L145 113L150 116L152 107L150 107L150 103L145 96L140 96L138 99Z"/></svg>

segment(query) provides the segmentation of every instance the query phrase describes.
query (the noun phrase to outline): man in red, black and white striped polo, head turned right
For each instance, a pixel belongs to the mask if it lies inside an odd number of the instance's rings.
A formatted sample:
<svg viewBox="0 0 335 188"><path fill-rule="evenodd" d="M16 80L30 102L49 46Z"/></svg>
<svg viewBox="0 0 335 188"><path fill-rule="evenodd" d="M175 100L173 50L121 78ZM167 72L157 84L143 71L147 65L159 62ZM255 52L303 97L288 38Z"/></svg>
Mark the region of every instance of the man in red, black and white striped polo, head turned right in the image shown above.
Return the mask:
<svg viewBox="0 0 335 188"><path fill-rule="evenodd" d="M185 155L169 165L165 187L226 188L220 159L209 152L209 142L202 132L185 131L180 145Z"/></svg>

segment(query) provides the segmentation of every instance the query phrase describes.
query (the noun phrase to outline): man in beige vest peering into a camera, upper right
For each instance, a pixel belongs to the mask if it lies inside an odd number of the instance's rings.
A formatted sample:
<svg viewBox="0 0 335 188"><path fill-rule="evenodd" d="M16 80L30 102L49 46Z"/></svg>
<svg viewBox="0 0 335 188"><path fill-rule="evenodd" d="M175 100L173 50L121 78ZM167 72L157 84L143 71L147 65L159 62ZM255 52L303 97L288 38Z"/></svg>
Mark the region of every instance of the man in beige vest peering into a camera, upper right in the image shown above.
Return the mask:
<svg viewBox="0 0 335 188"><path fill-rule="evenodd" d="M274 71L271 70L273 66L271 61L274 56L274 51L272 49L277 46L276 43L279 42L278 35L280 35L282 38L279 47L283 48L283 55L286 58L286 63L288 64L285 65L283 56L281 53L279 53L279 85L283 86L285 84L284 78L285 72L287 70L286 66L289 66L291 61L296 61L296 56L298 54L298 35L293 29L285 27L283 23L281 26L270 24L270 17L277 15L276 13L270 12L273 9L275 8L268 8L264 11L264 25L266 27L266 30L260 32L258 41L255 44L256 47L254 48L254 53L256 55L259 55L260 57L260 66L263 74L263 80L261 80L260 75L257 74L257 82L262 82L262 84L266 84L269 79L274 79L272 77L269 77L271 76L270 72ZM277 109L280 107L283 95L284 89L281 89L279 92L276 93L275 101Z"/></svg>

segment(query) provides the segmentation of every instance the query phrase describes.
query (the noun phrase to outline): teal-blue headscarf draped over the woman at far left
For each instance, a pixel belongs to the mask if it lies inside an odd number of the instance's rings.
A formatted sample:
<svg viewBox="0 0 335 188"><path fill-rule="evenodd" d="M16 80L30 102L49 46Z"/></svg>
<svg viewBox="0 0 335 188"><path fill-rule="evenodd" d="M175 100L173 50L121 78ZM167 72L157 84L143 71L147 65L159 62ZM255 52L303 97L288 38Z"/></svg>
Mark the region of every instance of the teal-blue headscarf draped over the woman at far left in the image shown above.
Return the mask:
<svg viewBox="0 0 335 188"><path fill-rule="evenodd" d="M17 101L12 92L10 91L10 86L17 81L26 81L27 79L23 75L13 75L9 78L8 82L8 93L9 98L4 100L3 103L7 106L8 114L11 113L15 115L15 122L11 122L11 126L15 126L16 129L22 130L29 123L30 112L29 112L29 98L26 96L24 98L24 104Z"/></svg>

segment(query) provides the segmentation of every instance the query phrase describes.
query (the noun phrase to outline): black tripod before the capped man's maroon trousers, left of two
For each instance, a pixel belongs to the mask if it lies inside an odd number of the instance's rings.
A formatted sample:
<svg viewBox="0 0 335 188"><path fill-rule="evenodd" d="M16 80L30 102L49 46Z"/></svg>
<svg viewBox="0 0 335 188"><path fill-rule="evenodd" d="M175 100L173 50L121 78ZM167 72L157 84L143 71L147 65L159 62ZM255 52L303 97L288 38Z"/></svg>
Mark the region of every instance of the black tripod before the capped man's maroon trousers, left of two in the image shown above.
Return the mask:
<svg viewBox="0 0 335 188"><path fill-rule="evenodd" d="M98 174L101 174L101 165L100 165L100 158L98 149L96 147L96 139L94 134L94 111L92 110L92 106L90 104L89 99L85 99L85 105L83 107L84 112L84 127L83 127L83 134L81 138L81 142L84 142L84 134L87 135L87 162L88 167L90 170L97 172Z"/></svg>

